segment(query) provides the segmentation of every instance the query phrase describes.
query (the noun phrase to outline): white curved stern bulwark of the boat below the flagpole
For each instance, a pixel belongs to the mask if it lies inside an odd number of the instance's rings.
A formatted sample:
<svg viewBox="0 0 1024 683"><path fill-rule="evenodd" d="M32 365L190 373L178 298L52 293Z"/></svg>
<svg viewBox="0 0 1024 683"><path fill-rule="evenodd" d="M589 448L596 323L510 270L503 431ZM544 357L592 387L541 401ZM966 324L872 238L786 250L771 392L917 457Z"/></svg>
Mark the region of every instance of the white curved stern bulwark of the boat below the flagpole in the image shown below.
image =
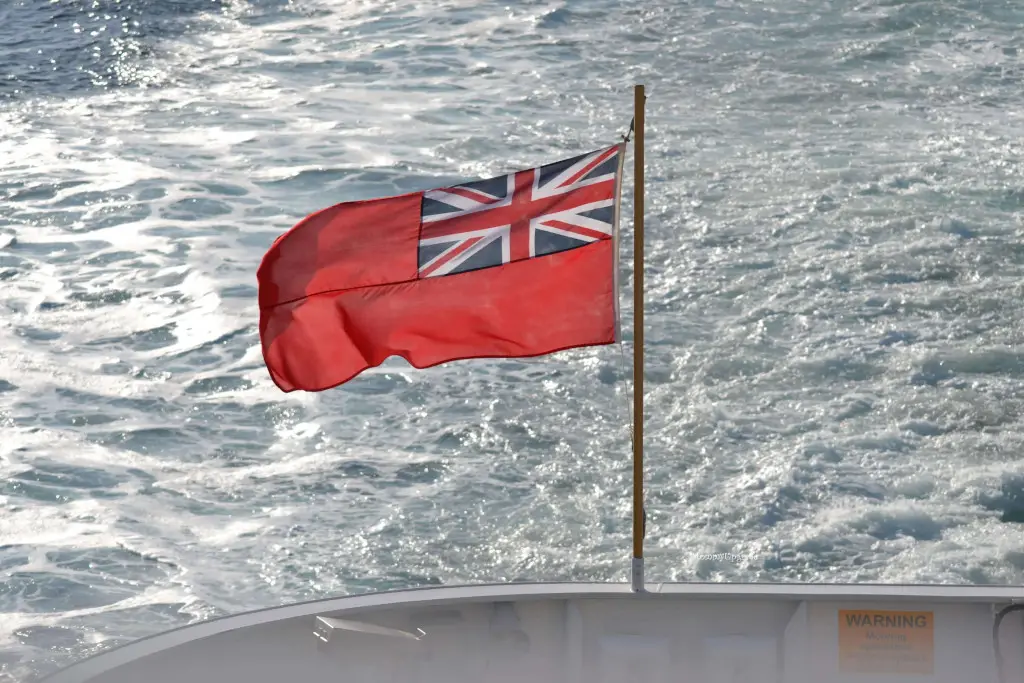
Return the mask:
<svg viewBox="0 0 1024 683"><path fill-rule="evenodd" d="M1000 683L1024 588L506 584L374 593L197 624L46 683ZM1024 680L1024 612L1000 629Z"/></svg>

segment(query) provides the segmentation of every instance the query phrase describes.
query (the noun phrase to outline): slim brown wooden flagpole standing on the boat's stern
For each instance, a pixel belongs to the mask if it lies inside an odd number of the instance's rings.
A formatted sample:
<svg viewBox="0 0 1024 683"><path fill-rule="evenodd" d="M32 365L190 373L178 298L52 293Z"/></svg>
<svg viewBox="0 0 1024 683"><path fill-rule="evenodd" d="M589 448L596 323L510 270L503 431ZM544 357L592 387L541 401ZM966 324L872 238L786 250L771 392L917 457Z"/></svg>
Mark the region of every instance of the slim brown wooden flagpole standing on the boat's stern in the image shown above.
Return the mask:
<svg viewBox="0 0 1024 683"><path fill-rule="evenodd" d="M633 90L633 591L643 586L643 112L647 97Z"/></svg>

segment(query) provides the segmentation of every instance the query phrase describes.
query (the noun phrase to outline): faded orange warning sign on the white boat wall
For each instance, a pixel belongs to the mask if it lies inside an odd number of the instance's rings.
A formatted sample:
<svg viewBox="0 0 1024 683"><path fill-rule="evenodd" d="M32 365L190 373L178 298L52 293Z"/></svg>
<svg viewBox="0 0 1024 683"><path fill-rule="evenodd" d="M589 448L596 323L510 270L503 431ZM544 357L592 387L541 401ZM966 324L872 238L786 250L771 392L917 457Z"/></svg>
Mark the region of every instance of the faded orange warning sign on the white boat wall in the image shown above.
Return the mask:
<svg viewBox="0 0 1024 683"><path fill-rule="evenodd" d="M931 674L933 612L839 610L839 670L861 674Z"/></svg>

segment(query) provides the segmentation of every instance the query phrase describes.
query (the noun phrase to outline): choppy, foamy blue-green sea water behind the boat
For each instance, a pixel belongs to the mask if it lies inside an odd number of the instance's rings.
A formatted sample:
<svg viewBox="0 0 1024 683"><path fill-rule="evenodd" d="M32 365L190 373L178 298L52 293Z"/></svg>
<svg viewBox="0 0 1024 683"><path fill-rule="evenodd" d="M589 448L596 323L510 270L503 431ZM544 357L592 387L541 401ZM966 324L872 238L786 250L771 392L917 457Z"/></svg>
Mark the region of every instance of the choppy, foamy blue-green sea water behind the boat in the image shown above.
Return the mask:
<svg viewBox="0 0 1024 683"><path fill-rule="evenodd" d="M1024 581L1022 24L5 2L0 678L317 596L625 580L629 344L284 395L254 273L335 202L613 141L637 81L650 579Z"/></svg>

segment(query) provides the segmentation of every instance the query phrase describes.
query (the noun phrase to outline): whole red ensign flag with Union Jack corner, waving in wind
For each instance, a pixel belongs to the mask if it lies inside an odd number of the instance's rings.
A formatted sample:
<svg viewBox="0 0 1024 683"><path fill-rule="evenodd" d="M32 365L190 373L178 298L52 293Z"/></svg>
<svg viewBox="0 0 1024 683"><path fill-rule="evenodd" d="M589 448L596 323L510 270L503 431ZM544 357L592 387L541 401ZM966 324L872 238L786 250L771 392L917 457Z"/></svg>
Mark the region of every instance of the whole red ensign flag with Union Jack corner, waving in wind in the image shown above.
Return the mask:
<svg viewBox="0 0 1024 683"><path fill-rule="evenodd" d="M336 204L271 245L260 342L283 391L615 341L625 143L485 180Z"/></svg>

